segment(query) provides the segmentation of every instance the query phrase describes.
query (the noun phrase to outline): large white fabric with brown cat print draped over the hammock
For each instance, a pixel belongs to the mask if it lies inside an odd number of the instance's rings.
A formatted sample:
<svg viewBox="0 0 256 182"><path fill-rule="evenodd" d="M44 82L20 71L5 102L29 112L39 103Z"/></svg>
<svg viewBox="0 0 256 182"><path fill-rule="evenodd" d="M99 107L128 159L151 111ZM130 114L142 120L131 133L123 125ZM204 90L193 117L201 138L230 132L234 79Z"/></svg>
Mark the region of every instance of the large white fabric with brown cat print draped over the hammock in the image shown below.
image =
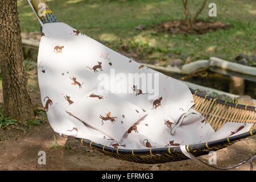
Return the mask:
<svg viewBox="0 0 256 182"><path fill-rule="evenodd" d="M132 79L122 79L131 74ZM197 113L189 114L171 135L170 129L194 105L189 88L65 23L43 24L38 80L48 121L59 134L142 149L205 142L215 133ZM108 90L118 100L95 89Z"/></svg>

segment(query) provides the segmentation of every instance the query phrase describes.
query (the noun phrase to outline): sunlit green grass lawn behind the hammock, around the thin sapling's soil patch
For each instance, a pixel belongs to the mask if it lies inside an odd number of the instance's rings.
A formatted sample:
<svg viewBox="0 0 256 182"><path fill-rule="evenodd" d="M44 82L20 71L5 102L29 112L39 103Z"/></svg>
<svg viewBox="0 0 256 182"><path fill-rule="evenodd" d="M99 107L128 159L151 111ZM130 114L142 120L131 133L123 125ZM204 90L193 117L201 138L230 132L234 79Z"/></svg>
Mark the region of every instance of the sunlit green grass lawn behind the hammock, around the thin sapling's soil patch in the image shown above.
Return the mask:
<svg viewBox="0 0 256 182"><path fill-rule="evenodd" d="M138 59L167 60L167 53L179 57L187 54L192 60L221 55L234 60L240 53L255 53L256 3L254 0L212 0L200 19L232 24L229 30L217 30L204 35L172 35L159 33L161 22L184 19L181 1L172 0L57 0L46 1L61 22L120 51L137 52ZM200 1L193 0L192 12ZM208 16L208 4L217 5L217 17ZM18 2L22 32L40 31L40 24L26 1ZM198 7L197 7L198 8ZM146 31L134 28L146 25ZM210 51L209 51L210 50Z"/></svg>

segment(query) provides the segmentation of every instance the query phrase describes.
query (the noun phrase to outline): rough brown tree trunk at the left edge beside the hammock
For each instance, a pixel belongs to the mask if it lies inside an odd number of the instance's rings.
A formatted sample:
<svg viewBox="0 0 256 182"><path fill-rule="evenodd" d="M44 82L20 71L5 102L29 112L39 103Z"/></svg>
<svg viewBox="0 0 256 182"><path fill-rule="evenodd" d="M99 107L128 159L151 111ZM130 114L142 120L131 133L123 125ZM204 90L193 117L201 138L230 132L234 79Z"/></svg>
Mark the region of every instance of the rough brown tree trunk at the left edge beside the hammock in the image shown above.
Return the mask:
<svg viewBox="0 0 256 182"><path fill-rule="evenodd" d="M18 120L34 117L23 63L17 0L0 1L0 66L5 113Z"/></svg>

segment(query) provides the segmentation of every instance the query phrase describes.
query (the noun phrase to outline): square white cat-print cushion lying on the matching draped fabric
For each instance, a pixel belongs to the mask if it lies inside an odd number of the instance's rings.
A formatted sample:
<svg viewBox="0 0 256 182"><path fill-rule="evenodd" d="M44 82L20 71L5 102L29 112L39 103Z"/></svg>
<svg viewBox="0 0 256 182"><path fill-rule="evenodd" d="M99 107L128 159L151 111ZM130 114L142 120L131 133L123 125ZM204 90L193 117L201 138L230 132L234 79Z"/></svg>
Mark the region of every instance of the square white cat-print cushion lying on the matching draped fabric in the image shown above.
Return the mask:
<svg viewBox="0 0 256 182"><path fill-rule="evenodd" d="M147 115L141 107L113 93L97 90L67 107L66 112L118 142L134 123Z"/></svg>

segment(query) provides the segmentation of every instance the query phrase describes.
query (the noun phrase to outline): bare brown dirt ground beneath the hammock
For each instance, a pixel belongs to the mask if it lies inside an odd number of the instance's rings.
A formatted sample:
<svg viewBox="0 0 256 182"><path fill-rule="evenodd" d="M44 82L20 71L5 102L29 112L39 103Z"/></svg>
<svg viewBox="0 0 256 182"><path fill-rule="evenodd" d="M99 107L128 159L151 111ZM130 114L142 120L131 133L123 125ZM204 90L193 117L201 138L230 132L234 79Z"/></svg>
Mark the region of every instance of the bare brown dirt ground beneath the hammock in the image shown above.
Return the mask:
<svg viewBox="0 0 256 182"><path fill-rule="evenodd" d="M42 107L36 72L28 74L28 90L35 107ZM0 103L3 103L2 91ZM47 120L47 119L46 119ZM56 140L55 140L55 137ZM248 137L217 151L218 167L234 166L255 153L256 136ZM46 152L46 164L38 164L38 152ZM210 156L201 156L206 162ZM254 165L256 166L256 165ZM254 167L254 170L256 167ZM216 170L191 159L164 164L138 164L106 156L79 140L63 138L55 133L49 123L40 126L19 126L0 129L0 170ZM232 170L250 170L250 163Z"/></svg>

